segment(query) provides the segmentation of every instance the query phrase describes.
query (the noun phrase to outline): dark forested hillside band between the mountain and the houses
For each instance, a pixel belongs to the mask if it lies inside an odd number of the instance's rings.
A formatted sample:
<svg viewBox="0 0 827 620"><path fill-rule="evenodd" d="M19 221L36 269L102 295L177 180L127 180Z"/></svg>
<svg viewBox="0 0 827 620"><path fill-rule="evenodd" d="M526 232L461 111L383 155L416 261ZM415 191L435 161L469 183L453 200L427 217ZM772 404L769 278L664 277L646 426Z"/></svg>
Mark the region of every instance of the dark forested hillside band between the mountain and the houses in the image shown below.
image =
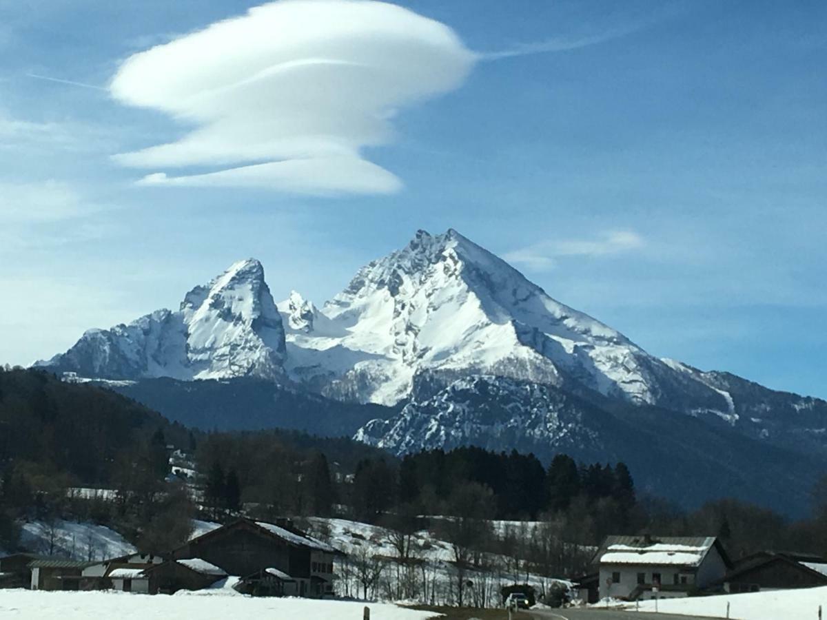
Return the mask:
<svg viewBox="0 0 827 620"><path fill-rule="evenodd" d="M189 460L197 474L172 475L171 457ZM686 511L639 492L633 478L624 463L577 463L564 454L548 467L533 455L476 447L398 460L347 438L194 431L108 389L37 370L0 372L0 548L7 550L26 519L90 520L160 551L189 536L192 517L246 514L338 516L398 532L430 527L469 549L505 544L493 520L531 520L543 523L548 541L533 551L535 563L568 572L619 532L711 533L735 557L764 548L827 551L825 480L813 489L810 518L791 521L729 498ZM84 499L76 493L84 488L111 494Z"/></svg>

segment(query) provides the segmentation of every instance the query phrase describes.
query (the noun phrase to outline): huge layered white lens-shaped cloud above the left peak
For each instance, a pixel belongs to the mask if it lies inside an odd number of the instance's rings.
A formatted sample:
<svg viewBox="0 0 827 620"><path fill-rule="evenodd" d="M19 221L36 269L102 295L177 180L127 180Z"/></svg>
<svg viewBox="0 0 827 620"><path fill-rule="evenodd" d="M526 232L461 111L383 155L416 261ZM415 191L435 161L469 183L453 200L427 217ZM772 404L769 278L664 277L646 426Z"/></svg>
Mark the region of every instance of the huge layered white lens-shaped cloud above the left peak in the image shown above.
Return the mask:
<svg viewBox="0 0 827 620"><path fill-rule="evenodd" d="M475 55L443 24L366 0L281 0L127 59L112 96L194 126L116 155L143 184L392 193L361 150L393 140L400 108L457 88ZM199 174L161 170L198 166ZM203 172L206 169L206 172Z"/></svg>

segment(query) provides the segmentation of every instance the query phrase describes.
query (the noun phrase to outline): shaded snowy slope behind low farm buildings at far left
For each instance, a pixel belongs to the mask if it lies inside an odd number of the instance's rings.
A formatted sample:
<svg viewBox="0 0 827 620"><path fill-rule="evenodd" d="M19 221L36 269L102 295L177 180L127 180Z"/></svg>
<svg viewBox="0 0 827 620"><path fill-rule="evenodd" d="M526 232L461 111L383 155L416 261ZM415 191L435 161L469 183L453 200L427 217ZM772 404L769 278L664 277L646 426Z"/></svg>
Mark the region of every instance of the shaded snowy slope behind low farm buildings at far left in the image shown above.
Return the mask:
<svg viewBox="0 0 827 620"><path fill-rule="evenodd" d="M135 547L114 530L94 523L32 521L22 527L21 545L32 553L103 560L134 553Z"/></svg>

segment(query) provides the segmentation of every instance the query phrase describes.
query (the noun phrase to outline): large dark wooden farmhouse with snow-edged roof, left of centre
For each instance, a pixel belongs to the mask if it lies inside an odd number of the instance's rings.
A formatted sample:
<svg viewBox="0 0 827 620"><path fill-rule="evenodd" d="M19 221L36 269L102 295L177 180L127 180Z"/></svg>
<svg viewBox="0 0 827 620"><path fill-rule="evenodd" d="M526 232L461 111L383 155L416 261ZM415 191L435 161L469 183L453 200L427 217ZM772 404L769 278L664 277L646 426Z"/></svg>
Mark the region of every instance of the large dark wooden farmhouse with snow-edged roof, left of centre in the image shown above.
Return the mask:
<svg viewBox="0 0 827 620"><path fill-rule="evenodd" d="M217 566L225 575L241 577L239 588L250 594L320 598L332 594L334 559L342 555L287 519L242 517L195 537L172 551L171 559L197 558Z"/></svg>

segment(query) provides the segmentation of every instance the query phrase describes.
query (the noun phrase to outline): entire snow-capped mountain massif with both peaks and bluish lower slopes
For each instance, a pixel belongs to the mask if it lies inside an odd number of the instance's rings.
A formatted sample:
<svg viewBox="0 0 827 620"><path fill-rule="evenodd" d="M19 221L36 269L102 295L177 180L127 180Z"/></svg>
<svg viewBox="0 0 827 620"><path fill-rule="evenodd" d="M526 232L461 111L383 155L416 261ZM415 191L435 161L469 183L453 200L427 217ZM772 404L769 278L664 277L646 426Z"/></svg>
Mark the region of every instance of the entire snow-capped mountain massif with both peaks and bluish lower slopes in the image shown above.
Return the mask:
<svg viewBox="0 0 827 620"><path fill-rule="evenodd" d="M211 415L228 418L211 418L210 427L286 419L270 411L279 398L313 412L322 394L327 413L306 426L319 434L341 418L335 432L398 455L473 444L544 459L566 451L625 460L644 484L676 499L691 497L681 472L694 467L697 499L772 475L778 488L760 497L795 487L803 505L811 475L827 467L825 401L658 359L452 230L418 231L322 308L296 292L276 306L261 265L241 261L190 291L178 312L88 331L43 364L146 379L136 394L195 426L198 408L181 404L190 390L151 378L275 380L277 394L257 388L261 398L247 398L247 410L238 406L251 389L245 382L202 384L216 403ZM360 403L392 407L353 409ZM676 474L664 477L664 468Z"/></svg>

